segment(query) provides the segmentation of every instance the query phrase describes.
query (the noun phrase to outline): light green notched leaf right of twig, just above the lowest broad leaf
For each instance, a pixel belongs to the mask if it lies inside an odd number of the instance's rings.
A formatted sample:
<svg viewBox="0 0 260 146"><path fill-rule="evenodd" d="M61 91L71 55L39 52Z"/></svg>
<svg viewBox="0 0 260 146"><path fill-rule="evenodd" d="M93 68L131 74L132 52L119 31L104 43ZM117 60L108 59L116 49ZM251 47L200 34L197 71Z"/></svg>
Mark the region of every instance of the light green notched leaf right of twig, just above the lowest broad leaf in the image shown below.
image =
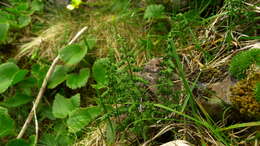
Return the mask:
<svg viewBox="0 0 260 146"><path fill-rule="evenodd" d="M66 116L71 113L73 110L79 107L80 104L80 95L76 94L75 96L67 99L60 94L56 94L53 106L52 113L56 118L66 118Z"/></svg>

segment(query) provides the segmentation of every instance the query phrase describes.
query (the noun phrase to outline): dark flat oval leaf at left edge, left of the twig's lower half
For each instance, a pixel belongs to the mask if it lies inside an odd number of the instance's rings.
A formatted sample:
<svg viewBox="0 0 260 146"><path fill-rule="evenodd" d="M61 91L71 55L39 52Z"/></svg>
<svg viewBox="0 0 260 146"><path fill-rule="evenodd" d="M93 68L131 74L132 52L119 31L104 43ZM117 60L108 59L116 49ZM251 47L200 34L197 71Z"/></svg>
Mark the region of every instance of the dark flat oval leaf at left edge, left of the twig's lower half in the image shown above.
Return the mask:
<svg viewBox="0 0 260 146"><path fill-rule="evenodd" d="M7 107L18 107L26 103L29 103L32 100L33 100L32 96L28 96L22 93L17 93L15 96L8 98L6 101L1 103L1 105Z"/></svg>

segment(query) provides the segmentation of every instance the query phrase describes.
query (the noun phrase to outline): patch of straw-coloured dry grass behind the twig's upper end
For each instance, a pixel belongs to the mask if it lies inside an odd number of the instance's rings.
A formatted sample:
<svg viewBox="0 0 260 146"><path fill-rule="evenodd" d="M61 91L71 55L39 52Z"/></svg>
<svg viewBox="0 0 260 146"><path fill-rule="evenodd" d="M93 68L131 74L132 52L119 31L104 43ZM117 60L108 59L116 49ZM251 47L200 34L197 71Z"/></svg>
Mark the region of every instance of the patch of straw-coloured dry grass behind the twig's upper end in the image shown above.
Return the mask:
<svg viewBox="0 0 260 146"><path fill-rule="evenodd" d="M137 20L130 20L138 18L132 17L129 19L129 16L100 13L98 11L100 10L95 8L83 8L78 15L49 16L55 17L48 20L50 27L41 30L37 37L30 38L30 41L22 44L17 58L38 55L41 58L52 60L57 55L58 50L67 43L66 40L69 40L81 26L88 27L86 35L91 35L97 39L96 49L90 52L91 55L103 57L112 49L115 52L116 59L121 60L122 52L120 48L124 46L122 42L118 41L120 38L124 38L131 50L138 51L137 42L145 36L145 32L142 25L137 23ZM145 53L140 54L145 55Z"/></svg>

